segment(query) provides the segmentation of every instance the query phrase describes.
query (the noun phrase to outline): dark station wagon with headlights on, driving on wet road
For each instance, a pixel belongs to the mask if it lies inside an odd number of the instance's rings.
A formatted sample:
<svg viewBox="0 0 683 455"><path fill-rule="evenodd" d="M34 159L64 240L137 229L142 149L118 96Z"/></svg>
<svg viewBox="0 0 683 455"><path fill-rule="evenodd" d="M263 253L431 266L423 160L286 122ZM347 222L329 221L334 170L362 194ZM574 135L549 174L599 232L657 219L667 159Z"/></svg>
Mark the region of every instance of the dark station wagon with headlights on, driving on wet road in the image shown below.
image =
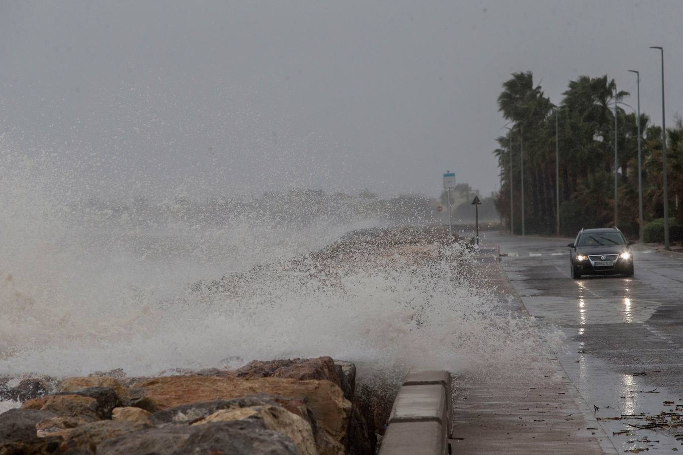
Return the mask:
<svg viewBox="0 0 683 455"><path fill-rule="evenodd" d="M581 229L569 252L572 278L582 275L633 276L633 255L622 231L616 227Z"/></svg>

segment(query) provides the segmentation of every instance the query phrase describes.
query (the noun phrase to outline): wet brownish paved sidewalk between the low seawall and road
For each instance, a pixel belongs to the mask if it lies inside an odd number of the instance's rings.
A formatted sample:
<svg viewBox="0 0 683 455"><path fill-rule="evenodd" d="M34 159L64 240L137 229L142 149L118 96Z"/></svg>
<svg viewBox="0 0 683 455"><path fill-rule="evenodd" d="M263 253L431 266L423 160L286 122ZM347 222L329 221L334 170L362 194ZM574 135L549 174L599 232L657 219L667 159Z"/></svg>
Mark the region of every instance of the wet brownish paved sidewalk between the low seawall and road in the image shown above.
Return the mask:
<svg viewBox="0 0 683 455"><path fill-rule="evenodd" d="M482 262L505 310L529 317L489 251ZM454 379L454 454L617 453L557 358L541 355L538 374Z"/></svg>

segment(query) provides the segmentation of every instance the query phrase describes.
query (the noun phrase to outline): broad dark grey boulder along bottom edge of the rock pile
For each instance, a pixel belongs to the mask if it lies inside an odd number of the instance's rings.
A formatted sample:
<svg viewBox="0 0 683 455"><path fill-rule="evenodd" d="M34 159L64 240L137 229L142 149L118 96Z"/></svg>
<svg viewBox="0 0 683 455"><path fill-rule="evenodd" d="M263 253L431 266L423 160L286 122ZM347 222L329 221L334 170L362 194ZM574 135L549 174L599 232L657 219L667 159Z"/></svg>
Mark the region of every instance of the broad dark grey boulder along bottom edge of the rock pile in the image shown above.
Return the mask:
<svg viewBox="0 0 683 455"><path fill-rule="evenodd" d="M97 453L296 455L297 452L288 437L266 429L262 421L242 420L136 431L107 439Z"/></svg>

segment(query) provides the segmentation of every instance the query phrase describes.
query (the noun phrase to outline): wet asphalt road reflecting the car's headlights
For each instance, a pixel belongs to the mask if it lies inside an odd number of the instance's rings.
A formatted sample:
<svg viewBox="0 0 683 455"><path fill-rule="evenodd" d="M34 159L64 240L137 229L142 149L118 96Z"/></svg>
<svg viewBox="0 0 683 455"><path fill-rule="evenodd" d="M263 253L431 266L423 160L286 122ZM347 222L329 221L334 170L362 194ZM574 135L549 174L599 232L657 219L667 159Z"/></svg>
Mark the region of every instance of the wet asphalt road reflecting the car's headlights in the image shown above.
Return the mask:
<svg viewBox="0 0 683 455"><path fill-rule="evenodd" d="M683 255L637 245L633 278L572 280L571 240L486 233L482 245L500 246L524 306L566 336L559 362L614 447L683 451Z"/></svg>

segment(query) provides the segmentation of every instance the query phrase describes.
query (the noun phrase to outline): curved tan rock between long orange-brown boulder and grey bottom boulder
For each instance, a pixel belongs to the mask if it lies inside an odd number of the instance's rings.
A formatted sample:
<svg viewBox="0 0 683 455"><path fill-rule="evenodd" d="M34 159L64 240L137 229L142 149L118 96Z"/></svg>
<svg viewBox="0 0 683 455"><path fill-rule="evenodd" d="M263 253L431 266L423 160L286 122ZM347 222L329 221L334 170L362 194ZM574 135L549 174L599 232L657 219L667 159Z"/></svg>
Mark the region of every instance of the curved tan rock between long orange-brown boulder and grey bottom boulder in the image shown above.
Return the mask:
<svg viewBox="0 0 683 455"><path fill-rule="evenodd" d="M299 455L318 455L311 425L298 415L279 406L265 405L221 409L193 423L193 425L238 420L261 420L268 430L277 431L291 439Z"/></svg>

